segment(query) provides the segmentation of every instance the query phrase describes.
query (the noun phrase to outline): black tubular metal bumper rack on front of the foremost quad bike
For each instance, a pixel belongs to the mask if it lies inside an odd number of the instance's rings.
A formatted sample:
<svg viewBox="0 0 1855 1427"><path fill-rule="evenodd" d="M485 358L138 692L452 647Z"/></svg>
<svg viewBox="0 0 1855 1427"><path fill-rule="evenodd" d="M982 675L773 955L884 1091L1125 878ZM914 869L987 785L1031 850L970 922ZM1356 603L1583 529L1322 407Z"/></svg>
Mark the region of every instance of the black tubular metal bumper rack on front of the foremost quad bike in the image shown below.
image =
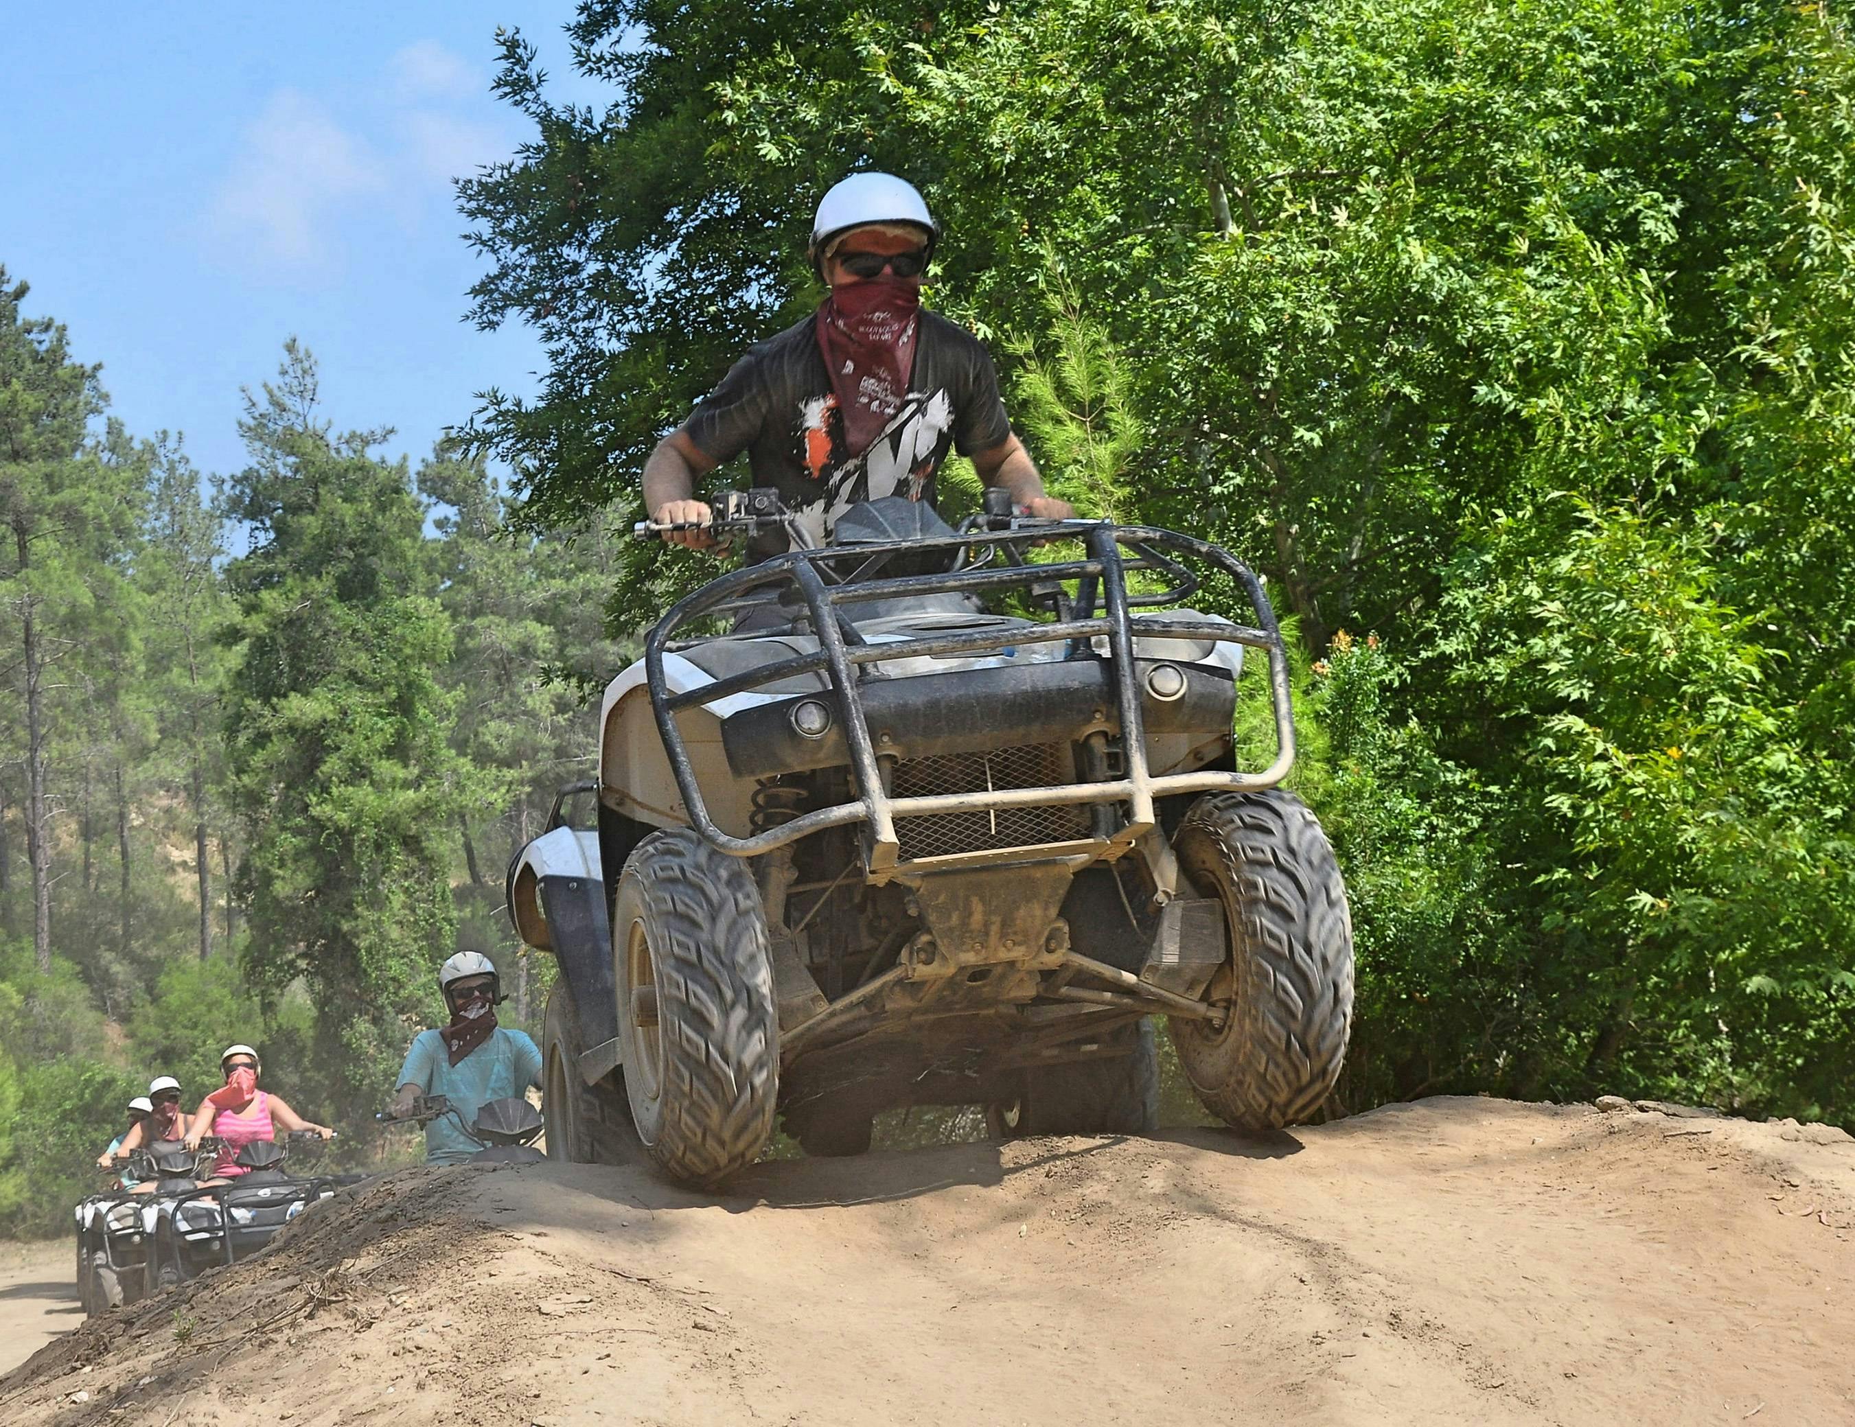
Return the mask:
<svg viewBox="0 0 1855 1427"><path fill-rule="evenodd" d="M1087 557L1052 564L1020 564L1015 559L1011 562L991 560L991 555L1000 551L989 547L1004 546L1005 557L1011 559L1017 553L1017 546L1031 540L1081 540ZM1124 549L1132 553L1132 559L1124 559ZM935 551L955 557L955 568L931 575L859 577L864 570L879 568L889 557L924 557ZM1228 573L1248 596L1256 611L1256 625L1213 624L1209 620L1191 620L1165 612L1135 612L1135 609L1178 603L1180 598L1198 585L1191 572L1165 551L1195 557ZM979 560L959 568L974 553L979 555ZM850 562L855 562L855 568L846 577L848 583L827 581L829 575L838 573L838 566ZM1159 572L1172 579L1174 585L1159 594L1143 592L1130 596L1126 585L1130 570ZM874 599L911 599L928 594L983 594L1031 586L1048 590L1052 585L1065 581L1078 583L1076 612L1080 618L1054 620L1050 624L1011 624L872 644L864 642L846 614L846 607ZM670 692L664 675L664 653L670 651L677 631L699 620L712 618L725 609L740 607L738 601L742 596L764 590L766 586L796 586L809 612L811 629L818 636L818 649L742 674L731 674L697 688ZM1096 609L1102 612L1096 614ZM1211 791L1254 792L1274 787L1287 776L1295 761L1295 716L1289 701L1287 655L1282 648L1282 631L1274 611L1269 607L1269 596L1263 594L1261 581L1230 551L1208 540L1196 540L1189 534L1161 531L1150 525L1018 521L1007 531L970 531L937 540L794 549L722 575L696 594L672 605L646 636L644 672L651 692L651 711L657 716L657 731L664 740L664 753L670 759L670 770L677 779L677 791L683 794L690 824L703 841L735 857L755 857L824 828L864 822L870 831L870 870L892 872L898 867L907 867L896 861L900 848L896 837L898 816L970 811L976 805L976 794L894 798L885 791L881 768L876 761L876 748L870 742L870 729L863 718L863 701L857 694L859 677L868 677L863 666L900 659L987 653L1005 646L1039 642L1068 642L1068 659L1093 659L1093 640L1102 636L1107 638L1109 659L1115 670L1120 746L1126 765L1124 776L1098 783L996 789L983 794L985 807L1120 802L1128 803L1130 816L1128 824L1115 833L1115 841L1132 842L1154 826L1154 798L1158 796ZM1146 768L1141 690L1133 666L1135 638L1217 640L1263 649L1269 655L1269 698L1276 726L1274 761L1256 774L1200 770L1154 778ZM694 705L712 703L729 694L818 672L829 675L829 694L820 694L820 698L833 698L837 703L835 714L842 720L859 796L835 807L801 813L790 822L783 822L753 837L733 837L722 831L714 824L714 818L709 816L683 731L677 727L677 713Z"/></svg>

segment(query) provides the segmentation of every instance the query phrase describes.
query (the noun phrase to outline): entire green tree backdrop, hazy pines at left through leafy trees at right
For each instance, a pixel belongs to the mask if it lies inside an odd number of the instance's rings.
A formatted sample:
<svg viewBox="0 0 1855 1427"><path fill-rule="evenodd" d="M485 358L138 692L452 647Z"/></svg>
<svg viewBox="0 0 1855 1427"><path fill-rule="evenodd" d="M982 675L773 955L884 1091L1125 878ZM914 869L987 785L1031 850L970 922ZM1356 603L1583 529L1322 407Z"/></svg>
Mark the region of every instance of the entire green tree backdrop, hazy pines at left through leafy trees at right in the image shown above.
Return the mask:
<svg viewBox="0 0 1855 1427"><path fill-rule="evenodd" d="M1267 572L1358 933L1347 1106L1855 1123L1840 9L586 0L571 37L610 104L505 32L532 141L460 184L460 306L542 334L542 390L416 471L291 343L202 479L0 282L0 1230L232 1030L352 1123L438 958L506 946L588 690L714 568L614 538L642 460L818 301L855 167L928 193L929 301L1055 490Z"/></svg>

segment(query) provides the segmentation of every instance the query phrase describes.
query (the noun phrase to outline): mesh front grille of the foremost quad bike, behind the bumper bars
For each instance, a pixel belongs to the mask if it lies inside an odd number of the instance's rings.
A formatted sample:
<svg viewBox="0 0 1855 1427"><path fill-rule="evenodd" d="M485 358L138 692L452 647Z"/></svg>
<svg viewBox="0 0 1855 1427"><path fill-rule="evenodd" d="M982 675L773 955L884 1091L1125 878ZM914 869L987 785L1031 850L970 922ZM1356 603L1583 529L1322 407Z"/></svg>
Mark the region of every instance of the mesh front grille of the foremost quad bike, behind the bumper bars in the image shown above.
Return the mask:
<svg viewBox="0 0 1855 1427"><path fill-rule="evenodd" d="M1072 778L1068 746L1059 742L903 759L896 763L892 796L976 794L976 800L972 811L896 818L900 855L946 857L1083 839L1089 835L1089 813L1081 805L985 805L987 792L1054 787Z"/></svg>

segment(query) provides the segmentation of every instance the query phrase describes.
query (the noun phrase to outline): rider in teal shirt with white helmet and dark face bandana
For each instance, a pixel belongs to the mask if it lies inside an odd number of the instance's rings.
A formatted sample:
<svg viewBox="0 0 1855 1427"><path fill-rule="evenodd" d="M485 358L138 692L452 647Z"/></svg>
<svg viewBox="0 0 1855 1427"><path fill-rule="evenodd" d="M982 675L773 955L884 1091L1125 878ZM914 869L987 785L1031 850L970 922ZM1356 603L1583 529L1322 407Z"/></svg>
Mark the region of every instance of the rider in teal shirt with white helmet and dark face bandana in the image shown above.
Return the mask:
<svg viewBox="0 0 1855 1427"><path fill-rule="evenodd" d="M417 1095L443 1095L464 1117L477 1119L488 1100L519 1097L542 1084L542 1052L519 1030L495 1024L501 983L490 958L460 952L438 972L438 985L451 1009L451 1024L421 1030L399 1073L395 1115L412 1113ZM427 1163L464 1163L482 1145L451 1115L425 1126Z"/></svg>

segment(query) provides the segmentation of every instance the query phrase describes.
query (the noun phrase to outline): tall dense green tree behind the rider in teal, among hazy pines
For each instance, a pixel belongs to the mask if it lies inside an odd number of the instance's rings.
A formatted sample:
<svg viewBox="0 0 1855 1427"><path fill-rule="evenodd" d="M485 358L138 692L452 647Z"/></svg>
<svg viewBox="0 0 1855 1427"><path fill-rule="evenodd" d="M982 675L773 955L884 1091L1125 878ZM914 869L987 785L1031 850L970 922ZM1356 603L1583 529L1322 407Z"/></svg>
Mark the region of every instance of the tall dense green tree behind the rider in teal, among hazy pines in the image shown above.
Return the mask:
<svg viewBox="0 0 1855 1427"><path fill-rule="evenodd" d="M358 1113L390 1089L454 933L449 848L473 778L440 687L451 625L404 464L369 455L384 432L334 434L293 340L241 432L252 464L226 508L252 542L228 566L226 740L245 967L267 1006L310 987L332 1091Z"/></svg>

